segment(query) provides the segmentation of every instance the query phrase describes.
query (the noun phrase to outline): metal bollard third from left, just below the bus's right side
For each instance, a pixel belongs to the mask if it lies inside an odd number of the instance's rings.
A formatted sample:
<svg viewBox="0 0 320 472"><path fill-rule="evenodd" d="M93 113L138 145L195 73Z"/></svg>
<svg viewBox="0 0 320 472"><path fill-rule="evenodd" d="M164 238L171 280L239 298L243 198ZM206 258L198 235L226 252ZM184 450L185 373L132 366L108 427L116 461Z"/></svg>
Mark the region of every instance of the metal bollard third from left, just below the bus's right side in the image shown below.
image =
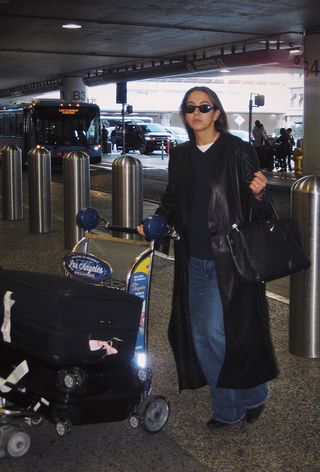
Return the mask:
<svg viewBox="0 0 320 472"><path fill-rule="evenodd" d="M72 249L82 238L78 211L90 205L90 159L85 152L69 152L63 158L64 244Z"/></svg>

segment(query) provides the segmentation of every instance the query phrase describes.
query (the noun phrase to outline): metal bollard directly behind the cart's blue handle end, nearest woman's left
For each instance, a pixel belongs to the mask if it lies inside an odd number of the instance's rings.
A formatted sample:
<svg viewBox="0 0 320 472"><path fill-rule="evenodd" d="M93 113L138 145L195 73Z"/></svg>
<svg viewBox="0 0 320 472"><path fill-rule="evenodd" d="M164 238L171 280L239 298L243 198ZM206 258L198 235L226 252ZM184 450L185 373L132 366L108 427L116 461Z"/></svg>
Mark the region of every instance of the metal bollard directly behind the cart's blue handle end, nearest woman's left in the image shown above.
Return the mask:
<svg viewBox="0 0 320 472"><path fill-rule="evenodd" d="M121 156L112 163L112 224L135 228L143 218L143 168L133 156ZM124 239L135 236L117 234Z"/></svg>

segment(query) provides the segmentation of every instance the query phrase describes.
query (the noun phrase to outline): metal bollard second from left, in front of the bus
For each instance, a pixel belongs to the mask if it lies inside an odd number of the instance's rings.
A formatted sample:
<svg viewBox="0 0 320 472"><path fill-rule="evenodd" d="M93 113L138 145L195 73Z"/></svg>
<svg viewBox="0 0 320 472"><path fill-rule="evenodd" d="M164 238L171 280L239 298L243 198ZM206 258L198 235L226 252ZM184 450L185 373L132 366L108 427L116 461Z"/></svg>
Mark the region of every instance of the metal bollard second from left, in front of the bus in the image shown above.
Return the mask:
<svg viewBox="0 0 320 472"><path fill-rule="evenodd" d="M31 233L52 231L51 153L42 146L28 152L29 228Z"/></svg>

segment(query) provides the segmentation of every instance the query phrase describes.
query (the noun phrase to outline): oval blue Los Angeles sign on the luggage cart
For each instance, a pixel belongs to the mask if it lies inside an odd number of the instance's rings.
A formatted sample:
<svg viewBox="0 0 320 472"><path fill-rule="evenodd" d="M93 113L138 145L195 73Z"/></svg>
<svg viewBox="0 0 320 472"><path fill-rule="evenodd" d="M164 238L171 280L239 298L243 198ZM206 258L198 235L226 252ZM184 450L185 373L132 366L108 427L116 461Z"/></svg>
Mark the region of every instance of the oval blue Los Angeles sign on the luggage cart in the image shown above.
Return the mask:
<svg viewBox="0 0 320 472"><path fill-rule="evenodd" d="M91 254L73 253L64 259L64 268L71 277L98 283L111 277L112 267Z"/></svg>

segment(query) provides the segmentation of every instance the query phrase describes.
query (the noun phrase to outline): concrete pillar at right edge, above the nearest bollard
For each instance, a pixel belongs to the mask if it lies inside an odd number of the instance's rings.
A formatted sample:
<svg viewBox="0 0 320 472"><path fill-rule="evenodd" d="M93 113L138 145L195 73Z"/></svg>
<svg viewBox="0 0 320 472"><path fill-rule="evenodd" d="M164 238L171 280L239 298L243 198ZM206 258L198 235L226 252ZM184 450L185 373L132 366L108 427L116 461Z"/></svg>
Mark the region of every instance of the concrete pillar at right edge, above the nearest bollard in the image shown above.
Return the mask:
<svg viewBox="0 0 320 472"><path fill-rule="evenodd" d="M320 175L320 34L304 40L303 174Z"/></svg>

